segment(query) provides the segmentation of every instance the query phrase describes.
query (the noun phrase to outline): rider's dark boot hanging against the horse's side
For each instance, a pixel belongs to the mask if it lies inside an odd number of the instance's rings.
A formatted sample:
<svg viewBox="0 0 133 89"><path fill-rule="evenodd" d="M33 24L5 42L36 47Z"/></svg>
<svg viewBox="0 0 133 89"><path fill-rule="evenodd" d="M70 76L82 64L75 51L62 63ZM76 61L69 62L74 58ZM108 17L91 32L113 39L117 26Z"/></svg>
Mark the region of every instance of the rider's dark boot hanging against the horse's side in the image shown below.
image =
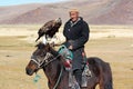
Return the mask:
<svg viewBox="0 0 133 89"><path fill-rule="evenodd" d="M74 71L75 80L81 88L82 85L82 70L78 69Z"/></svg>

